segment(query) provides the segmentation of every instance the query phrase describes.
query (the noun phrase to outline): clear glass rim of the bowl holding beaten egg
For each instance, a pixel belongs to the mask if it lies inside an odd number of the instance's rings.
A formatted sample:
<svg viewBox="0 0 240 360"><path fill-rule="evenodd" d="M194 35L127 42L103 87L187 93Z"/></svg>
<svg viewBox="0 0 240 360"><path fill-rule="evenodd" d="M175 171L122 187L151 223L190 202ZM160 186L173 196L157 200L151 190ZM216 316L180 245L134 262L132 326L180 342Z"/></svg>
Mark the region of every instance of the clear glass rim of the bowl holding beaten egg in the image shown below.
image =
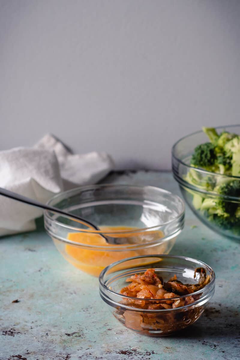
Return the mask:
<svg viewBox="0 0 240 360"><path fill-rule="evenodd" d="M181 207L179 209L177 209L177 216L174 217L174 219L166 221L162 224L158 224L158 225L154 225L154 226L150 226L150 227L145 227L145 228L136 228L134 230L123 230L123 231L114 231L114 230L110 230L110 231L103 231L103 230L92 230L92 229L81 229L75 226L71 226L71 225L66 225L62 222L59 222L55 219L53 219L53 217L51 217L49 214L51 213L51 211L49 210L44 210L44 218L46 218L47 220L54 222L55 225L59 225L63 228L67 228L69 230L78 230L79 232L83 232L83 233L88 233L88 234L134 234L134 233L139 233L139 232L146 232L149 230L154 230L157 228L161 228L162 226L171 224L171 222L177 221L179 219L181 219L182 216L184 216L185 214L185 203L184 201L181 199L180 196L173 194L172 192L162 189L162 188L158 188L157 186L150 186L150 185L129 185L129 184L94 184L94 185L83 185L83 186L78 186L74 189L70 189L64 192L60 192L56 195L54 195L51 199L49 199L49 201L47 202L47 205L50 205L52 201L54 201L54 199L63 196L63 195L68 195L70 193L78 193L81 192L83 190L87 190L87 189L92 189L92 188L103 188L103 187L107 187L107 188L113 188L113 187L119 187L119 188L139 188L139 189L152 189L154 191L158 191L161 194L167 194L167 195L171 195L172 198L174 198L175 200L178 201L178 203L181 205ZM160 230L160 229L159 229ZM48 231L48 230L47 230ZM170 234L169 234L170 235ZM169 237L169 235L167 237ZM51 236L54 236L54 234L51 233ZM163 240L165 237L161 238L161 240ZM63 240L63 238L61 238L60 240ZM69 241L68 241L69 242ZM74 245L81 245L82 243L77 243L77 242L71 242ZM150 244L151 242L149 242L148 244ZM86 246L86 244L82 244L84 246ZM136 244L135 244L136 245ZM96 246L99 247L99 246ZM103 246L101 246L101 248L103 248Z"/></svg>

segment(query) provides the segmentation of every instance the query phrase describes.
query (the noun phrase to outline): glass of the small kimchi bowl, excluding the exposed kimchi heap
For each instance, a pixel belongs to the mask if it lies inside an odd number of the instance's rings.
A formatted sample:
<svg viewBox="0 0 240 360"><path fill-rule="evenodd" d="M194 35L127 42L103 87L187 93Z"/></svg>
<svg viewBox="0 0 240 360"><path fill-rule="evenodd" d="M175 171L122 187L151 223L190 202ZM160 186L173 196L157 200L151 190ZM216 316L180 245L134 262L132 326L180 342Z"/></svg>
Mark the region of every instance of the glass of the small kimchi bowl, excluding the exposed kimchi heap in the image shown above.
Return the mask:
<svg viewBox="0 0 240 360"><path fill-rule="evenodd" d="M194 270L197 267L205 269L207 275L210 276L210 282L199 291L184 296L176 295L176 298L174 298L174 300L184 300L184 303L188 303L188 305L176 307L175 309L143 310L134 307L134 305L127 305L131 302L131 299L140 300L139 298L119 294L119 291L129 284L126 283L127 278L135 274L142 274L149 268L155 269L155 272L162 276L165 281L176 274L177 279L183 283L196 283ZM207 306L207 302L213 297L215 274L204 262L183 256L137 256L107 266L99 276L99 289L103 301L109 305L112 314L125 327L142 335L166 336L186 328L199 319ZM156 303L156 301L163 304L169 302L169 299L142 300L149 305Z"/></svg>

